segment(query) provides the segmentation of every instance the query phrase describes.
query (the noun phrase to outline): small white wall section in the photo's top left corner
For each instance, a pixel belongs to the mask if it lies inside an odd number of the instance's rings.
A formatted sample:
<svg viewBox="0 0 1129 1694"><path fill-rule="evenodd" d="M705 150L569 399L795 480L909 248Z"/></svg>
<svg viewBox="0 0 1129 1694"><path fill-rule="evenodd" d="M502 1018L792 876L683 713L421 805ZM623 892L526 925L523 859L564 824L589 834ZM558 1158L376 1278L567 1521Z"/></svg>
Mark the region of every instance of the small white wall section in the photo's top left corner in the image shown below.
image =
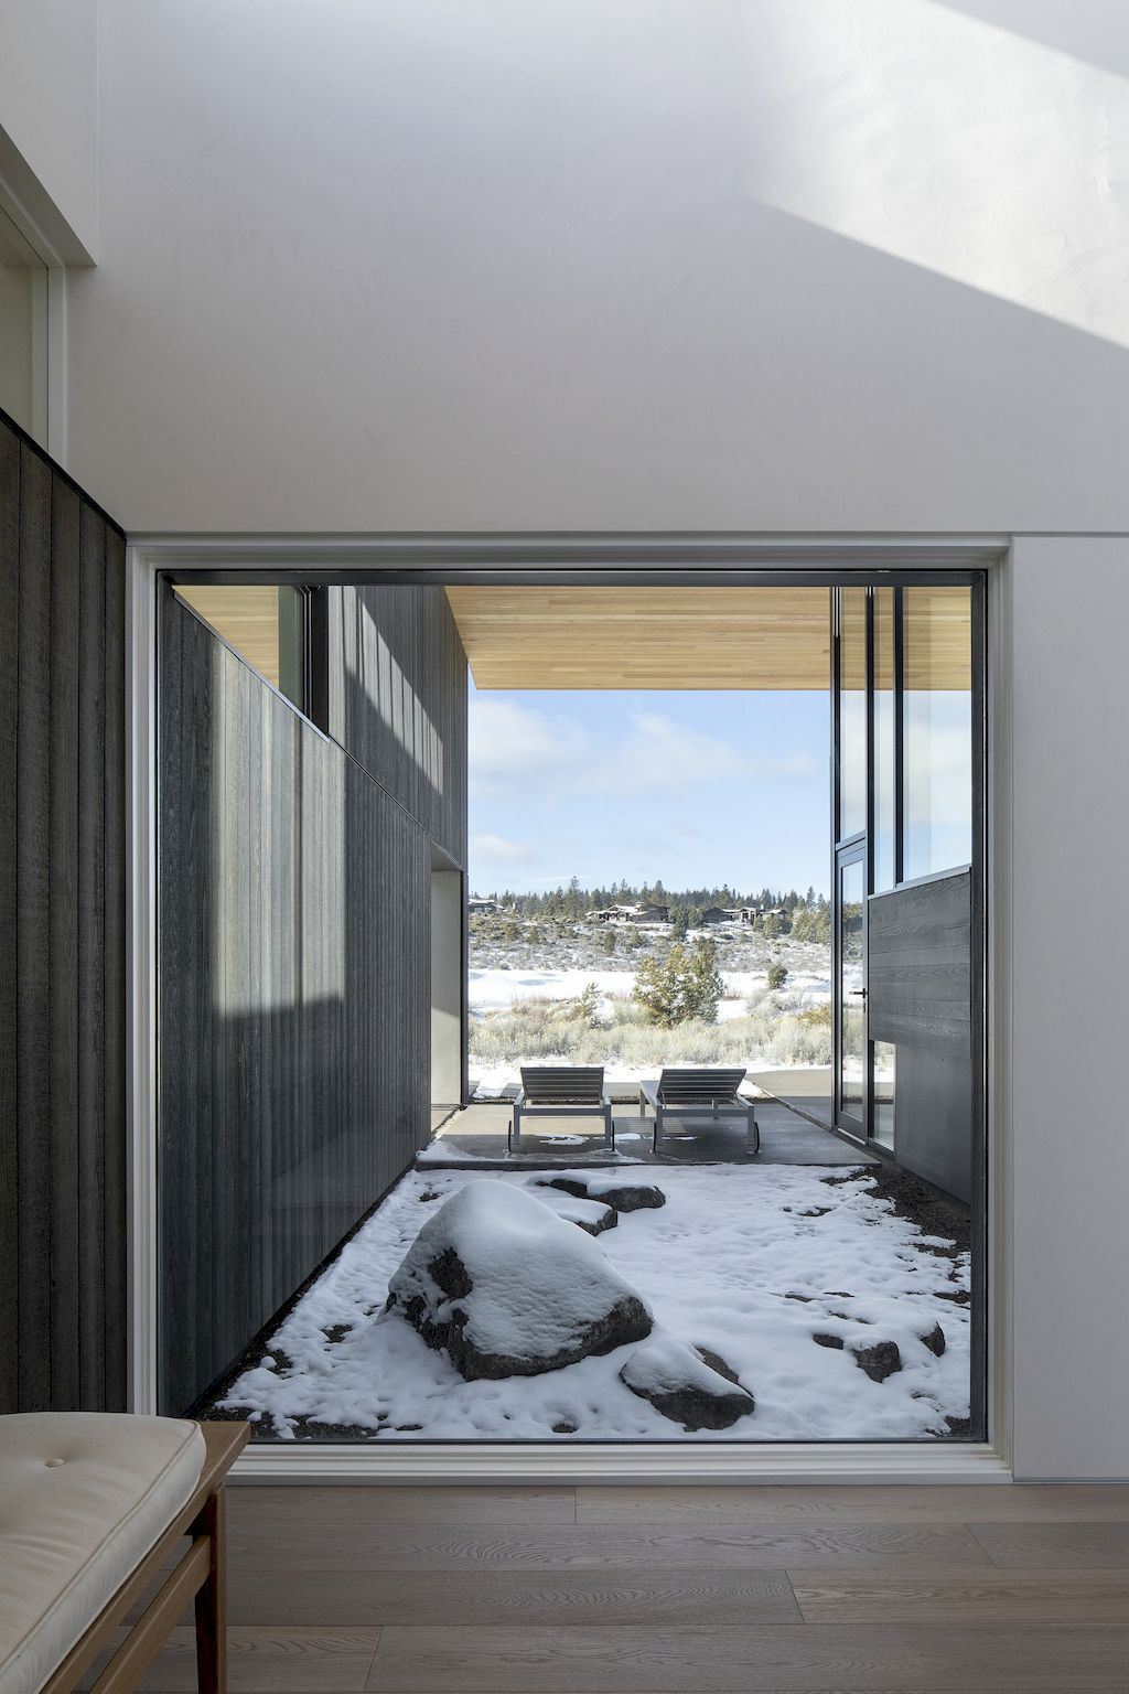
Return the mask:
<svg viewBox="0 0 1129 1694"><path fill-rule="evenodd" d="M98 246L96 0L0 0L0 176L83 263Z"/></svg>

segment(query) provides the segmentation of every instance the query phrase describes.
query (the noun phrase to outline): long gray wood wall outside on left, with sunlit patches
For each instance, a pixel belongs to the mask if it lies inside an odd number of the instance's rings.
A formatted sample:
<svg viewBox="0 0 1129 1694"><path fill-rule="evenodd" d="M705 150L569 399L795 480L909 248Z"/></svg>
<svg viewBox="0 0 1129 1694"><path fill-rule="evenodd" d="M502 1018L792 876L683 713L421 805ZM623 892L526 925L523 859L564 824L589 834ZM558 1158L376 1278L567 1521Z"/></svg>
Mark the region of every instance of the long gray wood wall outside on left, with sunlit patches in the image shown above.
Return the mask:
<svg viewBox="0 0 1129 1694"><path fill-rule="evenodd" d="M162 593L169 1413L234 1364L430 1133L432 840L462 861L465 659L442 590L332 596L332 728L345 745Z"/></svg>

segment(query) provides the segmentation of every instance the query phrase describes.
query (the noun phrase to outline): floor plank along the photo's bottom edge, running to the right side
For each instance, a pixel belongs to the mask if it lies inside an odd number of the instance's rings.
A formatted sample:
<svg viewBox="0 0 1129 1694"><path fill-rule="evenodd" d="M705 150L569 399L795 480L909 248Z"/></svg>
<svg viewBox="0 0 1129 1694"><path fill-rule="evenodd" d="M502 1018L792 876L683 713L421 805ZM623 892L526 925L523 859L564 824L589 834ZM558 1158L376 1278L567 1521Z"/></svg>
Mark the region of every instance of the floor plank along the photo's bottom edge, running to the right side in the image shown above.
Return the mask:
<svg viewBox="0 0 1129 1694"><path fill-rule="evenodd" d="M371 1694L1082 1694L1126 1689L1129 1628L476 1628L381 1633Z"/></svg>

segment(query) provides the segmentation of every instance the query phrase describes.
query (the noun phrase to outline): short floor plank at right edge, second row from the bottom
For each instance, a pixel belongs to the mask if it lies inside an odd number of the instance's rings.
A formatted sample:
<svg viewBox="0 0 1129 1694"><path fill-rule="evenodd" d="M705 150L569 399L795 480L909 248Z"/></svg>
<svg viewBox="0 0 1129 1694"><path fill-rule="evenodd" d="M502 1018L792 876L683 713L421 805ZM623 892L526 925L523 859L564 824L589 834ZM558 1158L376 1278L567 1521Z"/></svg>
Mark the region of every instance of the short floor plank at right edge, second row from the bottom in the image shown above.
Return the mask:
<svg viewBox="0 0 1129 1694"><path fill-rule="evenodd" d="M1129 1623L1129 1572L1119 1570L836 1569L796 1572L792 1586L806 1623Z"/></svg>

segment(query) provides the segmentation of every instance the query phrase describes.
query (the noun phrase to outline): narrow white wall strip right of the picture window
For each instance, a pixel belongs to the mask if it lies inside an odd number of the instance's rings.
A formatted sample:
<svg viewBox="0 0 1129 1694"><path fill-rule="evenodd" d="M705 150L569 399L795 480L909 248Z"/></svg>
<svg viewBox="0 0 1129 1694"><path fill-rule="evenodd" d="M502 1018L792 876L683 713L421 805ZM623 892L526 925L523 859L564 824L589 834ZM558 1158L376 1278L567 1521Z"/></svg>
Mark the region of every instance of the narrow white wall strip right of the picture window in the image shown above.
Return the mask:
<svg viewBox="0 0 1129 1694"><path fill-rule="evenodd" d="M1129 539L1011 566L1016 1475L1129 1481Z"/></svg>

